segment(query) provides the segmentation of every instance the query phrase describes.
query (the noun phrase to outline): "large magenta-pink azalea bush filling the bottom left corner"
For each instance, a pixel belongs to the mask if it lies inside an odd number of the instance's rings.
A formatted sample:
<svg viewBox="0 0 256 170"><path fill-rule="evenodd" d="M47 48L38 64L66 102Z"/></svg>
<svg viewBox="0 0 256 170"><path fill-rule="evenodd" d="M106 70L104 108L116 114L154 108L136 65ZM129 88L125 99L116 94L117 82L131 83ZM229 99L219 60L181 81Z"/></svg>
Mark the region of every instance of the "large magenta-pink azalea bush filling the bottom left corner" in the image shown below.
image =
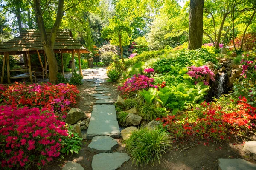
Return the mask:
<svg viewBox="0 0 256 170"><path fill-rule="evenodd" d="M46 108L0 106L0 167L27 169L60 155L61 140L68 136L65 122Z"/></svg>

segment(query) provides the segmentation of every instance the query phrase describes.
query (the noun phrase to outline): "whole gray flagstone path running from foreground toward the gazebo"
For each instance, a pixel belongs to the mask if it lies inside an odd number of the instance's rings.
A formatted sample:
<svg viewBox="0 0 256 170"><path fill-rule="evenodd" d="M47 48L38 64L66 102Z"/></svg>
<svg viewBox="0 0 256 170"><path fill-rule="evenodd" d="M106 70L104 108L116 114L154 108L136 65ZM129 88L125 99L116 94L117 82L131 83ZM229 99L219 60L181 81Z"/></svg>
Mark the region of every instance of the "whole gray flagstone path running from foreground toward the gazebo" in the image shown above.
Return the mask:
<svg viewBox="0 0 256 170"><path fill-rule="evenodd" d="M90 69L84 71L85 75L95 75L93 79L86 79L87 82L92 82L90 87L94 88L95 94L90 94L96 100L91 113L90 124L87 129L87 139L92 139L88 145L88 150L92 153L99 153L93 156L93 170L116 170L121 165L130 159L126 153L111 153L118 143L116 139L120 137L119 125L116 119L115 101L111 96L105 96L110 91L104 87L106 76L104 68Z"/></svg>

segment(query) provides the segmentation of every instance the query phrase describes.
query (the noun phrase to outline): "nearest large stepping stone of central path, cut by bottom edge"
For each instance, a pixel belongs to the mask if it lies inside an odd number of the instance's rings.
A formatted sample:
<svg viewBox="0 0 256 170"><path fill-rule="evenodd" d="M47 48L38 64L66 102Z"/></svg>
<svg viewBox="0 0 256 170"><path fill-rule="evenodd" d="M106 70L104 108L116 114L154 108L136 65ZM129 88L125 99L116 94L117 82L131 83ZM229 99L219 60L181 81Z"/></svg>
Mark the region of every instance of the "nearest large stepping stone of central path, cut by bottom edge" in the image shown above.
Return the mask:
<svg viewBox="0 0 256 170"><path fill-rule="evenodd" d="M130 159L126 153L99 153L93 156L93 170L116 170Z"/></svg>

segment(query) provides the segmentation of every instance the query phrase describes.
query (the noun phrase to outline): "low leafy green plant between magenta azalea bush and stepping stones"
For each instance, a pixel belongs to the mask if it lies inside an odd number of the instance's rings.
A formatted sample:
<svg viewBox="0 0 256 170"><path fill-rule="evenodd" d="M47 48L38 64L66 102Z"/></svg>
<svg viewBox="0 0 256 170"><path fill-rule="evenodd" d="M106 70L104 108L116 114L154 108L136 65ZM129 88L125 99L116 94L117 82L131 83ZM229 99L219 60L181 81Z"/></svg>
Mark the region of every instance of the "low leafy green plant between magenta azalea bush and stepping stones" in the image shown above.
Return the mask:
<svg viewBox="0 0 256 170"><path fill-rule="evenodd" d="M61 149L61 153L66 153L67 155L69 153L79 153L79 150L81 149L82 145L82 138L79 137L78 133L73 133L70 130L72 127L69 127L68 134L64 140L62 140L63 148Z"/></svg>

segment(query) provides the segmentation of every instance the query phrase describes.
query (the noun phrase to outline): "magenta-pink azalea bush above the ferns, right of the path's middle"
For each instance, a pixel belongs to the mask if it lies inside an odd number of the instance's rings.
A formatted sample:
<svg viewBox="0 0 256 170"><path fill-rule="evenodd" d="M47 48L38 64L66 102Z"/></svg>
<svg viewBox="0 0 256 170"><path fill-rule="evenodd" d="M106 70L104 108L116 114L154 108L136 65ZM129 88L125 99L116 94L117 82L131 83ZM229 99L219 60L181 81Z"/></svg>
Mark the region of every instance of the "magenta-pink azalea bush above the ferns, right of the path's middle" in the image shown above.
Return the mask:
<svg viewBox="0 0 256 170"><path fill-rule="evenodd" d="M121 91L122 95L129 95L130 92L150 87L158 88L157 85L154 85L154 79L138 74L138 77L134 75L126 79L122 86L118 86L118 90Z"/></svg>

